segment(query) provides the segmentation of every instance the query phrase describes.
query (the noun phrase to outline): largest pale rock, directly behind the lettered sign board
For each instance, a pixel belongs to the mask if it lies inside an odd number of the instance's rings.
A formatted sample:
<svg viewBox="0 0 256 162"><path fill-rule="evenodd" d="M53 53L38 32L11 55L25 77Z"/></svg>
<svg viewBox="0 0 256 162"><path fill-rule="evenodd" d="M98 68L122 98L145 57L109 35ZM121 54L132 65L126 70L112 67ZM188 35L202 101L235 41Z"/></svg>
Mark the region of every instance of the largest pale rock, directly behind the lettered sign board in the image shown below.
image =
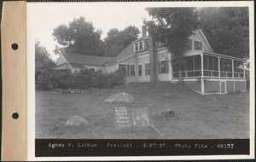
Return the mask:
<svg viewBox="0 0 256 162"><path fill-rule="evenodd" d="M118 93L118 94L113 94L110 97L108 97L105 102L108 103L113 103L113 102L125 102L125 103L132 103L134 101L134 98L132 95L127 94L127 93Z"/></svg>

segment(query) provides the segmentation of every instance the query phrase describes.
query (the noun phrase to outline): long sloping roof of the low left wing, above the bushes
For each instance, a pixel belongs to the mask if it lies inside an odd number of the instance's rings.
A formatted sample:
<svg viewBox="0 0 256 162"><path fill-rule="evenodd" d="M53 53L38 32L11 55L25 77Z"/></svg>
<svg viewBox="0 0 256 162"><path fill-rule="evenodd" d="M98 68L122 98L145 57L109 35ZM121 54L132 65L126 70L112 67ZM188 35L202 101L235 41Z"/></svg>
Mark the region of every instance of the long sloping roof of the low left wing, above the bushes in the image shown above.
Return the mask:
<svg viewBox="0 0 256 162"><path fill-rule="evenodd" d="M102 66L105 62L110 61L113 57L104 57L96 55L80 55L63 53L62 54L67 62L71 65L92 65L92 66Z"/></svg>

